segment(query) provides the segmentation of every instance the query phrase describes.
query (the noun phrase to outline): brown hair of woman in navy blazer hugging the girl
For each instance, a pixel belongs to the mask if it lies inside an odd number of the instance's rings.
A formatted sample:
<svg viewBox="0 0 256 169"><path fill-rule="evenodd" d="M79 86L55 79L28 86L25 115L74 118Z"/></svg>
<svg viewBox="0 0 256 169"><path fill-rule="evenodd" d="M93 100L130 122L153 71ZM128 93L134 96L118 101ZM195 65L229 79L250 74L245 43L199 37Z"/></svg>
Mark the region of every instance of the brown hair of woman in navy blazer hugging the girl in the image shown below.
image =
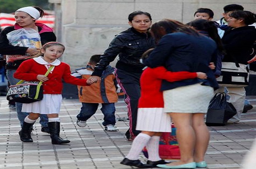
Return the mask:
<svg viewBox="0 0 256 169"><path fill-rule="evenodd" d="M171 19L162 19L152 24L150 28L150 32L152 36L155 38L156 42L158 42L162 38L163 34L160 31L163 29L165 30L166 34L173 32L183 32L195 36L199 35L197 31L187 27L179 21Z"/></svg>

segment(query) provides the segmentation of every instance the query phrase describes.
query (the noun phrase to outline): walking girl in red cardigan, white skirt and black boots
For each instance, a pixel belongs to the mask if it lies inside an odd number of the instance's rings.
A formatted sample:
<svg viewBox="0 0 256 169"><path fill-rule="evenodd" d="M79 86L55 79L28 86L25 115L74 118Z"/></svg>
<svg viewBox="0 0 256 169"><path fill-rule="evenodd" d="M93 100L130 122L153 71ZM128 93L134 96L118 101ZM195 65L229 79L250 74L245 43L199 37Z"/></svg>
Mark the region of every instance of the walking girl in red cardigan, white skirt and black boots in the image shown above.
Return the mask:
<svg viewBox="0 0 256 169"><path fill-rule="evenodd" d="M30 112L24 119L20 139L23 142L33 142L30 135L30 128L38 119L40 114L46 114L49 118L48 126L52 144L69 143L69 140L63 140L59 137L60 120L58 113L61 107L61 92L63 88L62 79L66 83L80 86L90 85L90 81L73 77L70 72L70 66L58 60L65 50L64 45L59 42L48 42L43 45L41 52L43 56L34 59L25 60L14 73L14 77L26 81L43 82L43 100L34 103L23 104L22 112ZM50 66L54 66L46 77L44 74Z"/></svg>

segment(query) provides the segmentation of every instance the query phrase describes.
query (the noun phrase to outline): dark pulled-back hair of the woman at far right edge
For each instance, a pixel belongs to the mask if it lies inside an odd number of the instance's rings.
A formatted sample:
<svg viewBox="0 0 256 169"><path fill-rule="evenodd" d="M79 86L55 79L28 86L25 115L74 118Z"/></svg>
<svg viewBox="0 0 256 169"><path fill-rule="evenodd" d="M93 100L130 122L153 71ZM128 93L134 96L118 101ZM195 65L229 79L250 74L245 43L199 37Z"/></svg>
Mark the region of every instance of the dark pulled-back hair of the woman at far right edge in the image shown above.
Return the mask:
<svg viewBox="0 0 256 169"><path fill-rule="evenodd" d="M232 11L229 16L235 19L241 19L246 25L251 25L256 22L256 15L250 11Z"/></svg>

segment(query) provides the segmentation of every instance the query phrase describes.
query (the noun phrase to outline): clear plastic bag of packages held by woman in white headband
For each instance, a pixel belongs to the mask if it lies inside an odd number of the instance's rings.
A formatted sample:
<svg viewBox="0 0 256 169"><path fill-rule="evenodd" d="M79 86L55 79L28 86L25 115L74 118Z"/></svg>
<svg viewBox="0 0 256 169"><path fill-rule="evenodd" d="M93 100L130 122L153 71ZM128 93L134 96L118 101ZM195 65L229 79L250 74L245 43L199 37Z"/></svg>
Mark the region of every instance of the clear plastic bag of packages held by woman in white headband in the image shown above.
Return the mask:
<svg viewBox="0 0 256 169"><path fill-rule="evenodd" d="M13 46L22 46L30 48L42 47L39 33L32 28L22 28L9 32L7 34L7 39L9 40L10 45ZM37 55L31 56L30 54L6 55L6 62L13 62L15 60L21 59L30 59L36 56Z"/></svg>

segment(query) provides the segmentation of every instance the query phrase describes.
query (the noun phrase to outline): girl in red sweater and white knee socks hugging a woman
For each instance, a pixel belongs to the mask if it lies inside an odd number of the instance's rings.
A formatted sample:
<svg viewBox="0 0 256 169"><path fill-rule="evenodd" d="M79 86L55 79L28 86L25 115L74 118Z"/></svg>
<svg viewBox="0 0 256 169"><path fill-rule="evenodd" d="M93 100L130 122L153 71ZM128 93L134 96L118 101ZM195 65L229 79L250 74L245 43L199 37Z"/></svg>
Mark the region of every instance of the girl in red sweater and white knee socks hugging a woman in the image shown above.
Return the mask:
<svg viewBox="0 0 256 169"><path fill-rule="evenodd" d="M145 53L149 53L151 50ZM143 54L143 57L145 55ZM162 132L171 132L171 118L163 112L163 92L160 91L160 88L162 80L173 82L188 78L206 79L207 75L203 72L171 72L167 71L163 66L146 68L142 72L140 78L141 97L139 99L136 126L136 130L141 130L142 132L133 140L132 147L128 155L120 162L121 164L139 168L151 168L156 167L157 164L169 163L162 160L158 153ZM147 164L143 164L138 160L139 154L145 146L149 155Z"/></svg>

